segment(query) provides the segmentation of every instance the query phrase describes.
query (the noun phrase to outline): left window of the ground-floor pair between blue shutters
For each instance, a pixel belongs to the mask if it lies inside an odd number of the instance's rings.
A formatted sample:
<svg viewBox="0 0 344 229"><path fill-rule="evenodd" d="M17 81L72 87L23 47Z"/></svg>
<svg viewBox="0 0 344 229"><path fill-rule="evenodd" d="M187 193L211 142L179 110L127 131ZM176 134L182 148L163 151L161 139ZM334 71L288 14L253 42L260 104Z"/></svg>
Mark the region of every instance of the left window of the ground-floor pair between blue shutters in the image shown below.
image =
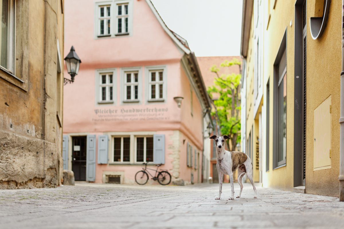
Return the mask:
<svg viewBox="0 0 344 229"><path fill-rule="evenodd" d="M114 137L114 162L130 162L130 137Z"/></svg>

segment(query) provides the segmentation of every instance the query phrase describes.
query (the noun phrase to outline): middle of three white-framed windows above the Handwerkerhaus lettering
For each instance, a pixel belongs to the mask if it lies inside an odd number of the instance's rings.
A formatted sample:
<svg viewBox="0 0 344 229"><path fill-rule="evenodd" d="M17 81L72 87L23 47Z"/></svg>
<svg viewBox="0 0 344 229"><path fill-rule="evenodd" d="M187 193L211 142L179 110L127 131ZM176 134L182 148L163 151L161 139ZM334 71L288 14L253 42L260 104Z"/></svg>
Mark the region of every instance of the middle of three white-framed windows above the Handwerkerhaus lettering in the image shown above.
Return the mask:
<svg viewBox="0 0 344 229"><path fill-rule="evenodd" d="M124 100L139 101L139 72L125 71L124 75Z"/></svg>

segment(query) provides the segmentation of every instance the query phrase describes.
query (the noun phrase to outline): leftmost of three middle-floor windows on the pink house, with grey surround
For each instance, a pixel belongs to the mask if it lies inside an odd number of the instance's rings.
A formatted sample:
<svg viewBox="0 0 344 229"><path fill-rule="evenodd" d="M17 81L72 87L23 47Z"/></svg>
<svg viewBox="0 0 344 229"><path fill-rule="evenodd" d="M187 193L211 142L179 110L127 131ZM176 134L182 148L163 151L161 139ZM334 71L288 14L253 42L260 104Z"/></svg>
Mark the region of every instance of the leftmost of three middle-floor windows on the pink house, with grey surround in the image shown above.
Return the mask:
<svg viewBox="0 0 344 229"><path fill-rule="evenodd" d="M116 69L97 70L98 103L113 103L115 101L115 71Z"/></svg>

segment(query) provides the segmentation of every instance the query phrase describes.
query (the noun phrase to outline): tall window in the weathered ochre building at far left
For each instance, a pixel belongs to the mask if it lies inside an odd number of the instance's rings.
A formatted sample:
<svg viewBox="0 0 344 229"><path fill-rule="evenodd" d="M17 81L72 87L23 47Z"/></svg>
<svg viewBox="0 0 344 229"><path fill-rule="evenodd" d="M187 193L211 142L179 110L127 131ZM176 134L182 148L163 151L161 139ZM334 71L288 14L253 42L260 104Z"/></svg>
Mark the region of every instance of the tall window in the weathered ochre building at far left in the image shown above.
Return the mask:
<svg viewBox="0 0 344 229"><path fill-rule="evenodd" d="M0 0L0 66L14 73L14 0Z"/></svg>

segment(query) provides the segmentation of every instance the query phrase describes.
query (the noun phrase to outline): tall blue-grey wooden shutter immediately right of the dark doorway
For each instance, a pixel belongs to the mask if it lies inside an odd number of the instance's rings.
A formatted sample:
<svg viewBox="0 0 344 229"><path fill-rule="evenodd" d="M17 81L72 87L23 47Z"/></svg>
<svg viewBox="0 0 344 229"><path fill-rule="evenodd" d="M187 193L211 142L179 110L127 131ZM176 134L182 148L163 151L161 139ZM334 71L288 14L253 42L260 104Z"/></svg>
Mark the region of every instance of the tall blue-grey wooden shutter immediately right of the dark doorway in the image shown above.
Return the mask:
<svg viewBox="0 0 344 229"><path fill-rule="evenodd" d="M87 135L86 181L96 180L96 136Z"/></svg>

